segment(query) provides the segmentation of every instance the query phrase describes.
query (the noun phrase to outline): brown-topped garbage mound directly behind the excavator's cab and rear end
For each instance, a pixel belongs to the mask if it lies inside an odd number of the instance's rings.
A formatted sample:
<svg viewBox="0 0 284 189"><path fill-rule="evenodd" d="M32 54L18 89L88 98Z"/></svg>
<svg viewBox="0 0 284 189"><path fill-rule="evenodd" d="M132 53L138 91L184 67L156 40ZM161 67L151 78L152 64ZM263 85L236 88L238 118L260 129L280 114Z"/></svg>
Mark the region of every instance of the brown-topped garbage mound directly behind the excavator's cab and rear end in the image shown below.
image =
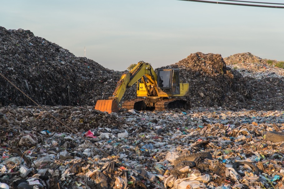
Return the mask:
<svg viewBox="0 0 284 189"><path fill-rule="evenodd" d="M226 66L220 54L190 54L162 68L179 68L182 83L189 83L188 100L192 106L227 106L239 109L251 99L242 75Z"/></svg>

